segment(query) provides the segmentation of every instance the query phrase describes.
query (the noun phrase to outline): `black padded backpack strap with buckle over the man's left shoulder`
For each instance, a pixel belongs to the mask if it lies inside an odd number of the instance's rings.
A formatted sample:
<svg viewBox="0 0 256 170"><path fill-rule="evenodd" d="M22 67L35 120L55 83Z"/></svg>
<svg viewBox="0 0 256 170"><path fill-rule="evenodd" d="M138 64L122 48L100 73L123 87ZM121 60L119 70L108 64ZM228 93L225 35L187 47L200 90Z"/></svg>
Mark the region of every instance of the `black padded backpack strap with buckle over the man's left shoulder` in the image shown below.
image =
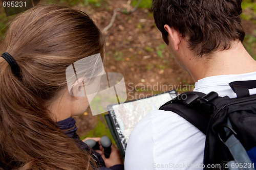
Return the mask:
<svg viewBox="0 0 256 170"><path fill-rule="evenodd" d="M202 92L189 91L184 92L178 95L175 99L165 103L159 109L165 111L173 111L183 118L185 118L192 125L197 127L201 132L206 134L207 126L209 118L204 113L201 113L197 107L200 107L199 104L194 104L195 101L199 98L203 98L205 100L211 100L212 94L215 92L211 92L208 95ZM216 96L216 94L215 94ZM218 96L218 94L217 94Z"/></svg>

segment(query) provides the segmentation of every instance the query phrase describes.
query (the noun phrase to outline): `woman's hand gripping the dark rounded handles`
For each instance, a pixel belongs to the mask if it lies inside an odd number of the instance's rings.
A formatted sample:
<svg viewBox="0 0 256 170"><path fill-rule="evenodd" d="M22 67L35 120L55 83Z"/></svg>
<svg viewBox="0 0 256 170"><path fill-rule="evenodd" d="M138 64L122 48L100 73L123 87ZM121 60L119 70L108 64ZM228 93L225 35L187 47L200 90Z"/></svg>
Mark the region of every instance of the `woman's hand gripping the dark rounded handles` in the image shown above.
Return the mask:
<svg viewBox="0 0 256 170"><path fill-rule="evenodd" d="M111 145L110 157L106 158L104 155L104 148L100 144L100 137L93 137L93 138L88 137L88 138L83 139L83 141L86 141L87 139L93 139L96 142L99 142L100 150L96 150L96 152L98 152L101 155L101 157L103 158L103 160L105 162L106 167L111 167L111 166L114 166L117 164L123 164L121 154L118 151L118 149L115 147L114 144Z"/></svg>

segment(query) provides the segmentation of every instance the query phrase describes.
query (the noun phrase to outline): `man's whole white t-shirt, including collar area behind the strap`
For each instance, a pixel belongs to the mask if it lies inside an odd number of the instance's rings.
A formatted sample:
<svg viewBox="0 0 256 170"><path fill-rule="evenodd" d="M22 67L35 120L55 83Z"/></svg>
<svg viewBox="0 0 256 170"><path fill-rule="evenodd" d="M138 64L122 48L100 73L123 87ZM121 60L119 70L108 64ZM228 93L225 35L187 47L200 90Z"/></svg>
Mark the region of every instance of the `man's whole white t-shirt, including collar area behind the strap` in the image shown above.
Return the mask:
<svg viewBox="0 0 256 170"><path fill-rule="evenodd" d="M228 83L243 80L256 80L256 72L207 77L196 82L194 91L216 91L219 96L236 98ZM256 94L256 88L249 91ZM203 169L204 144L205 135L180 115L152 111L140 120L129 137L125 170Z"/></svg>

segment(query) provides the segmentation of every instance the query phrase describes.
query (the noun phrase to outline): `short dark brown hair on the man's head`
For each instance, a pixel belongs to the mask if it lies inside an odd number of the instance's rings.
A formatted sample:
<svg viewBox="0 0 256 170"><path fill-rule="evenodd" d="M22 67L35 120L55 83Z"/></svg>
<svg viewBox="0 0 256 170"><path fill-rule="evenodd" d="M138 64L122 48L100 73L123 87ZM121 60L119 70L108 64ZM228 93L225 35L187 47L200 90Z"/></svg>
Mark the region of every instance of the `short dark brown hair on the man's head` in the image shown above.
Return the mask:
<svg viewBox="0 0 256 170"><path fill-rule="evenodd" d="M157 28L168 44L164 25L174 27L189 38L196 55L228 50L232 40L243 42L242 0L153 0L152 11Z"/></svg>

